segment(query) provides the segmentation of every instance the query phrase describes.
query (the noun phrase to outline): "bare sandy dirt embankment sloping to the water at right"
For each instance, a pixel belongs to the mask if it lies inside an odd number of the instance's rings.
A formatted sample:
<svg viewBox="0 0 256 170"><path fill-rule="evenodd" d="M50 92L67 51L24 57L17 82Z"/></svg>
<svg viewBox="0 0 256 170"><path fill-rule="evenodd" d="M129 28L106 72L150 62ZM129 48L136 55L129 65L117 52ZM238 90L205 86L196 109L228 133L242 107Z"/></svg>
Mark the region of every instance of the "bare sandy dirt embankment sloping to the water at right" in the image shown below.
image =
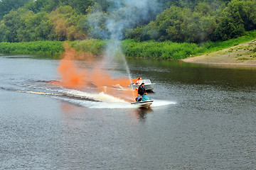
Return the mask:
<svg viewBox="0 0 256 170"><path fill-rule="evenodd" d="M196 57L188 57L182 61L198 64L256 67L256 40L236 45L225 50Z"/></svg>

